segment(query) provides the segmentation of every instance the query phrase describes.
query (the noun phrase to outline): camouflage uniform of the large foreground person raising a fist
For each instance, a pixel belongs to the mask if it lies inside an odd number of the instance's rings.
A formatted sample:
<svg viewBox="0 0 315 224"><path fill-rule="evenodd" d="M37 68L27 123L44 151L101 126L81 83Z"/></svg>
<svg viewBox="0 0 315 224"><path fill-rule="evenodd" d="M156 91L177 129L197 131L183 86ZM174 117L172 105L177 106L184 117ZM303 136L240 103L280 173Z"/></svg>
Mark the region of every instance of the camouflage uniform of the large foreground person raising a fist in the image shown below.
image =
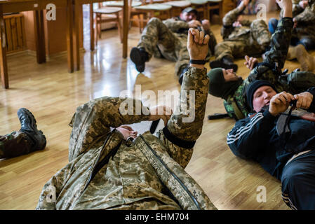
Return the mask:
<svg viewBox="0 0 315 224"><path fill-rule="evenodd" d="M194 123L182 123L187 116L179 107L157 137L145 132L131 144L110 127L148 120L119 113L126 100L147 111L139 100L103 97L79 106L70 123L69 164L43 187L36 209L215 209L184 170L202 130L206 69L189 68L182 91L189 90L196 92Z"/></svg>

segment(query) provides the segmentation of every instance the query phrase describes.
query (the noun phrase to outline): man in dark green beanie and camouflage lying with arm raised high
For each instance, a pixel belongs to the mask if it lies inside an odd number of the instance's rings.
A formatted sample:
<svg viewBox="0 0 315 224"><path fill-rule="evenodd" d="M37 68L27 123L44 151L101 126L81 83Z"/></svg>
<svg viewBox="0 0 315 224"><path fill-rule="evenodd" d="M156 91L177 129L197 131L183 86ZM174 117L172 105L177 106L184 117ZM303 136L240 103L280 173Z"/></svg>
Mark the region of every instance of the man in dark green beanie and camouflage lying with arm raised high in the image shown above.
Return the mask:
<svg viewBox="0 0 315 224"><path fill-rule="evenodd" d="M287 7L284 6L284 2L286 1L277 1L281 8ZM293 94L315 86L315 75L310 71L293 71L288 75L283 75L281 71L286 61L293 29L292 2L290 5L290 9L286 8L286 15L283 15L272 35L270 50L265 53L264 61L255 63L253 58L246 57L246 64L250 69L248 78L242 80L232 69L211 69L208 72L209 93L224 99L224 107L231 118L239 120L250 112L250 107L246 104L246 89L254 80L268 80L277 92L285 90Z"/></svg>

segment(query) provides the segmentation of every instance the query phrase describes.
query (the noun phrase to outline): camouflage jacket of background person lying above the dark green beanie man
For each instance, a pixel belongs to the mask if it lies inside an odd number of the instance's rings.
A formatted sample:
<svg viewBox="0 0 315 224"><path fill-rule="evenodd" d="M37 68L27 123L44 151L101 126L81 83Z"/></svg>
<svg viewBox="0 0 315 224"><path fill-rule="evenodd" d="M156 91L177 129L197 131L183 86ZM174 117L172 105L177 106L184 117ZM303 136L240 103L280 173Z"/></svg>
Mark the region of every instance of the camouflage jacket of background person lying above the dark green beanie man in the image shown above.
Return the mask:
<svg viewBox="0 0 315 224"><path fill-rule="evenodd" d="M250 36L250 25L252 23L250 20L241 20L241 27L233 27L233 23L236 22L242 12L243 10L234 8L224 15L221 29L221 35L224 41L248 40Z"/></svg>

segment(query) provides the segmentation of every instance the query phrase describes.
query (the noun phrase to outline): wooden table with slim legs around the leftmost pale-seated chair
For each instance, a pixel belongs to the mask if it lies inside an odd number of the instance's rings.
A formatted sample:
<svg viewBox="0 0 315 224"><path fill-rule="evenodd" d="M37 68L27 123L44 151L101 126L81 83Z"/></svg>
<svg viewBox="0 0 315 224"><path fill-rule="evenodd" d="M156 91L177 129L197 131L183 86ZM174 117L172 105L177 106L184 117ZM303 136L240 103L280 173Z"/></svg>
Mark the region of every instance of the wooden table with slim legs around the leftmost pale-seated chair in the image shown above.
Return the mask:
<svg viewBox="0 0 315 224"><path fill-rule="evenodd" d="M83 4L90 4L90 34L91 34L91 50L94 50L94 20L93 20L93 3L103 2L104 0L73 0L74 1L74 32L73 32L73 41L74 41L74 71L80 69L80 52L79 52L79 7L82 7ZM112 0L107 0L112 1ZM123 0L123 58L127 57L127 48L128 48L128 0Z"/></svg>

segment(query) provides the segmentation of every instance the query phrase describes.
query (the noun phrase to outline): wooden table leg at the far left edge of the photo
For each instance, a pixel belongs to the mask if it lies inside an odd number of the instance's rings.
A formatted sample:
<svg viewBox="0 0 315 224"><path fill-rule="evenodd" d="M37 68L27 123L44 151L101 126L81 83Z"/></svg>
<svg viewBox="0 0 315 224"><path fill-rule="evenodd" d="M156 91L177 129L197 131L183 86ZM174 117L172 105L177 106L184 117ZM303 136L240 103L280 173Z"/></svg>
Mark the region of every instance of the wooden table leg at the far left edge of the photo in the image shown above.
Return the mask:
<svg viewBox="0 0 315 224"><path fill-rule="evenodd" d="M2 87L8 89L8 64L6 62L6 30L4 27L4 15L0 5L0 72Z"/></svg>

